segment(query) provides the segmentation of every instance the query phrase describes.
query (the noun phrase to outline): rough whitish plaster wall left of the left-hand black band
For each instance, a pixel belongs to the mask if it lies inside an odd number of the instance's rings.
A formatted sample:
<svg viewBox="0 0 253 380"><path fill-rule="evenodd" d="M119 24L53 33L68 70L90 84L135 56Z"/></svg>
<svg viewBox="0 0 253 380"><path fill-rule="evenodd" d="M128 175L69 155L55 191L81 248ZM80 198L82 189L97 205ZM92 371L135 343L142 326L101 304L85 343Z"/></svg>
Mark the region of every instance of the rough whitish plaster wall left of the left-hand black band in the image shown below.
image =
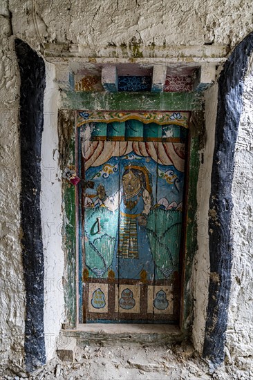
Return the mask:
<svg viewBox="0 0 253 380"><path fill-rule="evenodd" d="M19 194L19 67L5 1L0 6L0 376L24 367L26 296Z"/></svg>

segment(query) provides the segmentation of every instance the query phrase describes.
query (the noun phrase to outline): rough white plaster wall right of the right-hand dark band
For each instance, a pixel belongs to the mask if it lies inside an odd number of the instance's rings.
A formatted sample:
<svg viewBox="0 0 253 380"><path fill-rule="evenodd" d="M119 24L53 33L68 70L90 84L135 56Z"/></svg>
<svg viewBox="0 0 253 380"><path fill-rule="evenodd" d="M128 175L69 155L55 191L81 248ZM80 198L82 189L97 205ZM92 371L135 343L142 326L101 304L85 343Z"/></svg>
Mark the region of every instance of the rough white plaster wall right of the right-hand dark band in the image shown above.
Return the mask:
<svg viewBox="0 0 253 380"><path fill-rule="evenodd" d="M227 361L253 369L253 55L245 75L243 112L234 153L231 219L232 286ZM252 373L253 375L253 373Z"/></svg>

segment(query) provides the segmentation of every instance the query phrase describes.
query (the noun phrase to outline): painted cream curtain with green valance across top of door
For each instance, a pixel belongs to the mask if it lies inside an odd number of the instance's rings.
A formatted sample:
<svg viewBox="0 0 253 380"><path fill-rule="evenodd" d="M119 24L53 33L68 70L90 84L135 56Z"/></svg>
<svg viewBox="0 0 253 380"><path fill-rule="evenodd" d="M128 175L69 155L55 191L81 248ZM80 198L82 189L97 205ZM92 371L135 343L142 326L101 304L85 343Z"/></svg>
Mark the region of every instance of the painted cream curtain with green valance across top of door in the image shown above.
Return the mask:
<svg viewBox="0 0 253 380"><path fill-rule="evenodd" d="M100 122L93 124L91 128L93 141L84 140L82 146L86 170L91 166L99 167L104 164L113 152L114 155L127 155L131 151L143 157L151 157L162 165L174 165L178 171L185 169L186 131L178 126L160 127L154 123L143 124L138 120L129 120L110 124ZM159 149L158 142L162 142Z"/></svg>

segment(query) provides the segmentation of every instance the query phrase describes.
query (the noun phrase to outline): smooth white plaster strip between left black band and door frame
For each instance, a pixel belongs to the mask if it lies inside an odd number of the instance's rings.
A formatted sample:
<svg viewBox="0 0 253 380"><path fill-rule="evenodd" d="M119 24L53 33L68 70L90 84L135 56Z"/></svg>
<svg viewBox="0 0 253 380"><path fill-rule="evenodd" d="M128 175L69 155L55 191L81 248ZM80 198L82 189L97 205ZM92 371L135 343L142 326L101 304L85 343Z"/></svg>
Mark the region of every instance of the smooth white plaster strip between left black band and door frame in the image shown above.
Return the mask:
<svg viewBox="0 0 253 380"><path fill-rule="evenodd" d="M44 131L41 143L41 225L44 247L44 330L46 358L55 355L64 323L64 252L62 251L62 175L59 169L57 116L59 90L55 65L45 62Z"/></svg>

